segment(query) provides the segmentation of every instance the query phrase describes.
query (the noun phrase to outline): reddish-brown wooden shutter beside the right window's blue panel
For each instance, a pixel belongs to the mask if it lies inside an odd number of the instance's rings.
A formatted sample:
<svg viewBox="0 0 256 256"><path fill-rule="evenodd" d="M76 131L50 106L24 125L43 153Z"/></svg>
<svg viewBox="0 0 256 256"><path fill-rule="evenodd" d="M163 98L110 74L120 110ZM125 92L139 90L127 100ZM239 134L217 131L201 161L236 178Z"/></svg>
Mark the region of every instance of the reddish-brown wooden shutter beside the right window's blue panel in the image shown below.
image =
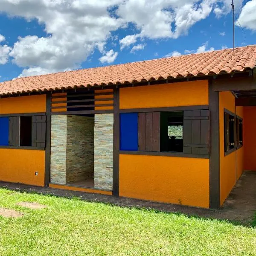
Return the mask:
<svg viewBox="0 0 256 256"><path fill-rule="evenodd" d="M160 151L160 112L138 113L139 151Z"/></svg>

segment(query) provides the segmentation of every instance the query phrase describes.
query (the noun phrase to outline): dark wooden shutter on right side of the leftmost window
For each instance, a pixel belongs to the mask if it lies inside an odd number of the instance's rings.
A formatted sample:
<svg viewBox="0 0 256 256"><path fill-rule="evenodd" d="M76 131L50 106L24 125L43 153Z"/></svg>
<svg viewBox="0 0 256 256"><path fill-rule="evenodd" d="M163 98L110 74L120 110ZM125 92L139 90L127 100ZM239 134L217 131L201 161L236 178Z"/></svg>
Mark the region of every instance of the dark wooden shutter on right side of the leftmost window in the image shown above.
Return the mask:
<svg viewBox="0 0 256 256"><path fill-rule="evenodd" d="M32 116L32 147L45 148L46 116Z"/></svg>

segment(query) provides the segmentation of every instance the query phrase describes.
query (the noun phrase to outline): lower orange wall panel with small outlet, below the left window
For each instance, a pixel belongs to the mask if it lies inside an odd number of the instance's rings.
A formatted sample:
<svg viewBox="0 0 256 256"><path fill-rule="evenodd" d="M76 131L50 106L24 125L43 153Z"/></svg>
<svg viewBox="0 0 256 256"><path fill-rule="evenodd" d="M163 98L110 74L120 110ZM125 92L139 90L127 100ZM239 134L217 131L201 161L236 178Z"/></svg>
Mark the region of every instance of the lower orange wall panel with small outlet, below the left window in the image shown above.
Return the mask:
<svg viewBox="0 0 256 256"><path fill-rule="evenodd" d="M44 150L0 148L0 163L0 180L44 186Z"/></svg>

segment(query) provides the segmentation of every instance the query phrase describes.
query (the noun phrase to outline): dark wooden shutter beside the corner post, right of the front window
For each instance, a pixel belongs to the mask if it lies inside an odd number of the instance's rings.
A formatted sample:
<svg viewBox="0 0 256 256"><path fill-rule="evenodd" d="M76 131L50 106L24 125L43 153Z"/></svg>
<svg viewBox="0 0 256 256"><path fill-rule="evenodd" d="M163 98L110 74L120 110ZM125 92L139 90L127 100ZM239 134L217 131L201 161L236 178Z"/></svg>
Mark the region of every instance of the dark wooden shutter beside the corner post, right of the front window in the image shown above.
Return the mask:
<svg viewBox="0 0 256 256"><path fill-rule="evenodd" d="M209 110L185 110L183 153L209 154Z"/></svg>

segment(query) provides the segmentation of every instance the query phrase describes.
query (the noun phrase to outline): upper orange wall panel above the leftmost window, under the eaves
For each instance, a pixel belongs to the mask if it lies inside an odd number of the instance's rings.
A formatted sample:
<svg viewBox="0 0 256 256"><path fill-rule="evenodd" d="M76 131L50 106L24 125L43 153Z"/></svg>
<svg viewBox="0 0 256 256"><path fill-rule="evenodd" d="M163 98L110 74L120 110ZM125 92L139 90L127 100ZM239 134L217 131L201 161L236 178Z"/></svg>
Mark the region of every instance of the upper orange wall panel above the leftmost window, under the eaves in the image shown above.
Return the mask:
<svg viewBox="0 0 256 256"><path fill-rule="evenodd" d="M37 113L46 111L46 95L31 95L0 99L0 114Z"/></svg>

